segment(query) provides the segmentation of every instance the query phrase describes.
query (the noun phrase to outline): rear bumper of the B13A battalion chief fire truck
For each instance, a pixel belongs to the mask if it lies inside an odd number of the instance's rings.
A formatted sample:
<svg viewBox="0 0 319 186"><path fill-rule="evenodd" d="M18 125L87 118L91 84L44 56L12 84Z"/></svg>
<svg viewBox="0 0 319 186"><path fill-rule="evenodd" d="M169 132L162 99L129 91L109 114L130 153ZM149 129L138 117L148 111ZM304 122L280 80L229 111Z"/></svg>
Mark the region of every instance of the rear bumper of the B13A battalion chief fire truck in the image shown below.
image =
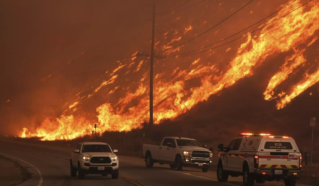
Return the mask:
<svg viewBox="0 0 319 186"><path fill-rule="evenodd" d="M277 169L278 170L278 169ZM274 168L254 168L255 174L270 176L270 177L288 177L288 176L298 176L301 174L302 169L280 169L283 170L282 175L276 175Z"/></svg>

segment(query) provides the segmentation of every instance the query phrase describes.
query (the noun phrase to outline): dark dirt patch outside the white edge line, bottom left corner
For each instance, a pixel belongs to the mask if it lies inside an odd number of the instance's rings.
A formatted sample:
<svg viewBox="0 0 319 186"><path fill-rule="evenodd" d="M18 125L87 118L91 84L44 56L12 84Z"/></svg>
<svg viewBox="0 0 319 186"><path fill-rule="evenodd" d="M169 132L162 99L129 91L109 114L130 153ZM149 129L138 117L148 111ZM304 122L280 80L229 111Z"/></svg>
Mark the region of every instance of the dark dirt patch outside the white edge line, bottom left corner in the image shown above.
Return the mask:
<svg viewBox="0 0 319 186"><path fill-rule="evenodd" d="M0 155L0 186L13 186L31 178L31 173L17 161Z"/></svg>

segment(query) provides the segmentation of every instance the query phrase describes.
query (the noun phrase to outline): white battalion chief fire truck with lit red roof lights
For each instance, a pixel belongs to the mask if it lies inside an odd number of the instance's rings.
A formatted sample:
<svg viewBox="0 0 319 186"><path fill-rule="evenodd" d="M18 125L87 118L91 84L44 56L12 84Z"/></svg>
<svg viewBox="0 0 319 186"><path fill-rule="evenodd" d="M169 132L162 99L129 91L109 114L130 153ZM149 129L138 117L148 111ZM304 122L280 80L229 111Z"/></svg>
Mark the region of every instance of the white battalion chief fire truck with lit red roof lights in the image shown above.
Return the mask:
<svg viewBox="0 0 319 186"><path fill-rule="evenodd" d="M283 179L294 186L301 173L301 154L291 137L270 134L241 134L224 147L218 145L217 178L243 176L245 186Z"/></svg>

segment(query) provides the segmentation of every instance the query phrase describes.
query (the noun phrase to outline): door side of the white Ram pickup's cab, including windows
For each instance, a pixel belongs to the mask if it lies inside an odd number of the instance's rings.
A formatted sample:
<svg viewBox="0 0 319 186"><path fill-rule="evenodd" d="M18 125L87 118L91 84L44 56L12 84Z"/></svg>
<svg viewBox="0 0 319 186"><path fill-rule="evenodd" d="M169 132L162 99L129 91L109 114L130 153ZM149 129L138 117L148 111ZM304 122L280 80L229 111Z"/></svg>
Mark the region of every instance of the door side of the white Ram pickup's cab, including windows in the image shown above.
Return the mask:
<svg viewBox="0 0 319 186"><path fill-rule="evenodd" d="M173 146L173 147L169 147ZM159 146L159 160L166 162L173 162L175 157L172 158L175 151L175 140L173 138L165 138L163 143Z"/></svg>

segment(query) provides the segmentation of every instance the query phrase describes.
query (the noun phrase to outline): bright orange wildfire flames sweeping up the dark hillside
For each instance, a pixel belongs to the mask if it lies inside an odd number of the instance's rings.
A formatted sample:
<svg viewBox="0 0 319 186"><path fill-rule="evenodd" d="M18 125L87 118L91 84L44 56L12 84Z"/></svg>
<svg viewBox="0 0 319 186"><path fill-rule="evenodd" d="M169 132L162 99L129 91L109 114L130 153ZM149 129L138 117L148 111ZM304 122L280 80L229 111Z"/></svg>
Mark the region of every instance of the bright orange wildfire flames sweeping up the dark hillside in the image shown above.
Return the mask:
<svg viewBox="0 0 319 186"><path fill-rule="evenodd" d="M299 1L294 2L268 22L280 18L300 5ZM308 8L302 7L272 23L270 26L266 26L260 33L254 36L248 35L243 39L237 51L235 47L225 48L223 51L225 52L226 50L227 55L235 52L235 56L230 60L226 69L219 68L218 63L206 60L203 55L200 58L196 57L196 60L189 58L182 61L183 63L188 62L189 66L186 68L181 65L165 73L168 79L173 79L174 81L167 83L165 77L160 74L156 75L153 92L154 123L158 124L167 118L173 119L181 115L182 112L187 112L187 109L191 109L199 102L207 100L211 95L220 93L222 89L233 86L238 80L252 76L255 73L255 69L265 63L266 58L271 55L287 54L289 51L293 52L292 55L286 57L285 63L278 69L278 72L270 78L263 93L265 100L277 101L277 109L284 108L300 93L318 82L319 69L309 73L311 65L306 64L307 57L304 53L318 39L315 36L315 32L319 29L319 3L318 1L312 1L307 6ZM208 23L205 21L204 24L207 25ZM170 44L181 40L182 36L178 36L179 33L185 34L191 29L196 29L196 27L187 24L187 26L182 26L179 30L173 28L166 29L172 32L165 31L165 33L160 34L159 37L164 38L165 36L165 38L163 42L157 42L157 48L160 48L160 50L171 48ZM211 34L215 35L214 32ZM167 37L173 39L165 41ZM183 37L186 36L183 35ZM181 49L183 47L181 46ZM166 51L165 54L175 53L179 50L180 47L174 48L173 50ZM139 76L136 82L131 82L132 85L134 83L134 85L138 86L135 90L132 90L131 87L133 86L130 85L127 92L119 94L122 96L117 102L111 103L111 101L108 101L96 108L98 114L96 117L99 122L98 130L100 131L131 130L138 126L141 121L149 120L149 87L147 82L149 71L147 69L140 72L146 60L139 60L138 62L135 56L137 53L138 51L130 56L128 60L123 60L123 64L120 63L108 75L108 80L104 80L93 93L91 92L85 98L89 99L104 86L117 85L118 82L125 79L123 77L126 74L134 73L133 76ZM207 53L207 56L209 57L212 54L214 52ZM162 64L163 66L165 64ZM306 69L308 68L302 78L291 86L280 87L283 82L293 77L295 75L294 72L300 70L301 66ZM121 73L122 70L120 69L123 67L129 70ZM131 68L135 69L131 70ZM194 78L200 78L200 84L188 88L187 81ZM124 86L125 88L122 90L120 90L120 86L113 86L114 88L110 88L111 91L106 94L114 96L115 90L117 90L116 92L123 92L127 86ZM80 104L80 100L72 101L72 103L69 109ZM93 126L93 122L86 120L83 115L67 116L63 114L59 118L55 118L55 120L47 117L35 132L30 132L27 128L23 128L19 136L22 138L43 137L42 140L73 139L77 136L90 134L94 129Z"/></svg>

